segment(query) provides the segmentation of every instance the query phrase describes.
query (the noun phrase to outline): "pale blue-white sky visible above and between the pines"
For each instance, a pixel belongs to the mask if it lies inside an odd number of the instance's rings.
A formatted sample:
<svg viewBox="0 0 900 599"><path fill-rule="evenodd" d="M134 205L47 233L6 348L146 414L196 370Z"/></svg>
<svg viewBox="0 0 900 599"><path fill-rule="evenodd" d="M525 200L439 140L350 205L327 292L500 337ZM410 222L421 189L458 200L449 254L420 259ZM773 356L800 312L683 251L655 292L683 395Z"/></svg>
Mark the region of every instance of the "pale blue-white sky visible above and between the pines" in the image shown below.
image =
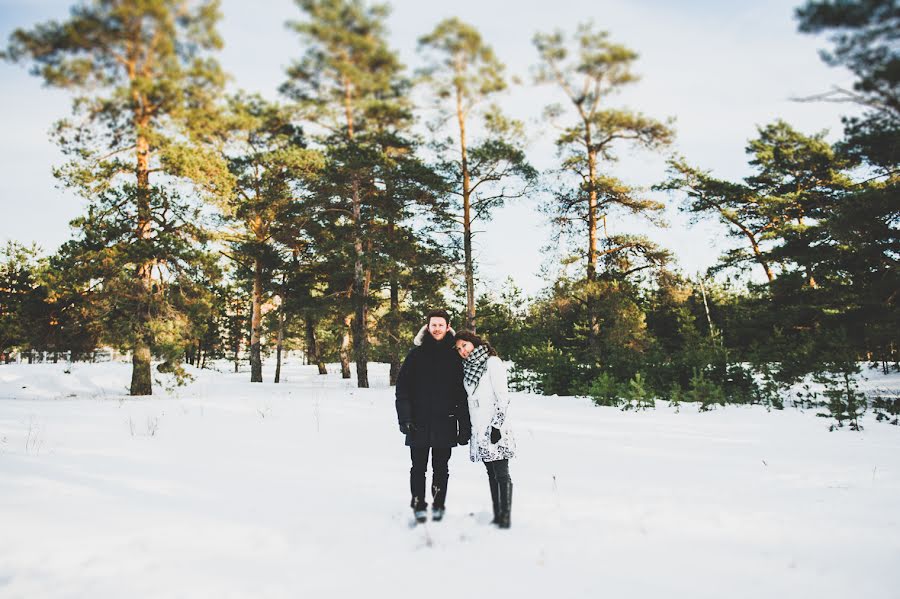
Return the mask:
<svg viewBox="0 0 900 599"><path fill-rule="evenodd" d="M757 127L781 118L805 133L823 130L834 141L840 117L849 108L830 103L797 102L835 86L849 86L852 75L827 66L818 50L822 37L802 35L793 18L799 0L737 2L711 0L554 0L522 1L515 9L499 0L423 2L396 0L388 21L390 43L411 68L420 64L416 40L443 18L456 16L474 25L522 84L499 101L526 123L528 156L541 170L556 166L554 131L541 119L544 107L565 98L551 86L534 86L535 32L574 31L592 20L613 41L636 51L634 71L641 80L611 98L664 120L675 119L676 139L663 153L622 147L619 161L606 172L632 185L650 187L666 177L665 160L678 154L715 176L736 180L750 173L744 148ZM49 19L63 20L70 1L0 0L0 39L5 44L18 27ZM285 68L302 48L285 22L302 17L291 0L222 1L220 31L225 47L218 55L233 77L232 86L277 99ZM67 92L45 88L21 65L0 63L0 243L36 242L52 252L71 235L68 223L84 201L59 189L51 170L63 163L48 132L70 112ZM644 233L673 252L678 268L692 276L716 262L734 241L722 225L692 225L679 212L678 195L651 194L666 203L669 226L610 218L610 233ZM508 277L527 294L547 285L541 266L555 260L545 248L555 239L539 206L540 194L517 200L493 213L476 235L481 289L496 289Z"/></svg>

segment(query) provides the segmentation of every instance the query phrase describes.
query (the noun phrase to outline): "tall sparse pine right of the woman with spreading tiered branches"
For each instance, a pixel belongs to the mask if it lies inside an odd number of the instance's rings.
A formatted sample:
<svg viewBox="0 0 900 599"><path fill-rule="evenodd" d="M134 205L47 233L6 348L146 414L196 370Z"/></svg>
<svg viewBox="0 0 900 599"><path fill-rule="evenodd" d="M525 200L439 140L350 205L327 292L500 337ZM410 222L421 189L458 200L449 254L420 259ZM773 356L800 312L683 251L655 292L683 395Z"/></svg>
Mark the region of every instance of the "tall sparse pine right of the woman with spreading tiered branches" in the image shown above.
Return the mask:
<svg viewBox="0 0 900 599"><path fill-rule="evenodd" d="M655 150L670 143L673 133L668 124L607 105L615 92L637 80L631 71L637 54L611 42L606 32L595 31L588 23L578 26L571 41L557 31L538 33L533 42L540 57L536 81L556 86L570 105L571 121L565 124L559 122L566 116L562 105L551 105L545 112L560 130L556 139L560 172L569 177L560 179L555 202L545 210L553 215L563 238L574 238L583 248L578 254L586 263L585 276L573 284L572 291L586 310L590 355L585 363L596 368L606 355L620 362L621 368L631 358L609 355L610 350L618 353L608 345L613 338L627 330L631 337L619 339L623 348L642 351L639 348L646 345L641 341L643 325L636 320L629 277L661 267L669 254L645 235L608 233L607 220L613 210L659 223L656 214L663 209L660 202L642 197L641 190L620 181L610 170L621 144ZM604 322L616 324L604 331Z"/></svg>

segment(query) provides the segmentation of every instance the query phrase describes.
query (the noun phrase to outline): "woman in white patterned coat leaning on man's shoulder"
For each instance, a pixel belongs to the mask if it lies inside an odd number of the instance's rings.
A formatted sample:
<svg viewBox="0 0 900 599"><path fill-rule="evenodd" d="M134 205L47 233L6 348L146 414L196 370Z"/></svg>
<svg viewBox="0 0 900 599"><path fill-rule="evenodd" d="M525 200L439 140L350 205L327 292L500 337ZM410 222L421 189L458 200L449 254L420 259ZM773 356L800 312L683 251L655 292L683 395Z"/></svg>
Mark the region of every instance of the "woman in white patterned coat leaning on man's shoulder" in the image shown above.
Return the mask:
<svg viewBox="0 0 900 599"><path fill-rule="evenodd" d="M509 459L516 443L507 423L509 393L506 367L489 343L475 333L460 331L454 347L463 359L463 382L469 394L472 437L469 457L484 462L491 485L494 520L500 528L509 528L512 507L512 480Z"/></svg>

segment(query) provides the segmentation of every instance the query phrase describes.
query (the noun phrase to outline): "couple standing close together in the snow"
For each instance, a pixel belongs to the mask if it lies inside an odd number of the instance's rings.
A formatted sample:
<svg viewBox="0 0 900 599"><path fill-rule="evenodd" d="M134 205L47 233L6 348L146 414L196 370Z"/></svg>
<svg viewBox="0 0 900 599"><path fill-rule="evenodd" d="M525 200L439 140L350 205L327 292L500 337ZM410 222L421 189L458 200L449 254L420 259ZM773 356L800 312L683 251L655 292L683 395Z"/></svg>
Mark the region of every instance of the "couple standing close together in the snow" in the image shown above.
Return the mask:
<svg viewBox="0 0 900 599"><path fill-rule="evenodd" d="M424 522L425 473L431 454L431 515L444 516L448 463L456 445L469 446L473 462L483 462L490 483L493 523L509 528L512 480L509 459L515 441L506 421L509 394L506 367L489 343L468 331L455 333L444 310L428 314L397 377L397 419L406 435L412 468L411 506Z"/></svg>

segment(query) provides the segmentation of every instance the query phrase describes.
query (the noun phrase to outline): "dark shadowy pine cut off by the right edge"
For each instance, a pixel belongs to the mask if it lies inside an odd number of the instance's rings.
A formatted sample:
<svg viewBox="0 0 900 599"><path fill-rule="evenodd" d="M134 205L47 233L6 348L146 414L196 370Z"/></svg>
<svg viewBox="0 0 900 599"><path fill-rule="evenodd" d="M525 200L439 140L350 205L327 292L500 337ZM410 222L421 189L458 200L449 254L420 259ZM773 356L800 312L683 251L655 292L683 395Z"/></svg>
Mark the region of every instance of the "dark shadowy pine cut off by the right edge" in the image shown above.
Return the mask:
<svg viewBox="0 0 900 599"><path fill-rule="evenodd" d="M900 362L900 10L894 0L811 0L796 11L800 31L827 33L833 49L821 52L832 66L857 79L810 100L852 102L863 108L844 117L838 151L865 167L861 180L837 194L810 237L822 271L843 284L828 293L840 305L843 326L867 358ZM835 277L835 281L837 281ZM847 309L851 308L851 309ZM860 339L860 337L862 339Z"/></svg>

